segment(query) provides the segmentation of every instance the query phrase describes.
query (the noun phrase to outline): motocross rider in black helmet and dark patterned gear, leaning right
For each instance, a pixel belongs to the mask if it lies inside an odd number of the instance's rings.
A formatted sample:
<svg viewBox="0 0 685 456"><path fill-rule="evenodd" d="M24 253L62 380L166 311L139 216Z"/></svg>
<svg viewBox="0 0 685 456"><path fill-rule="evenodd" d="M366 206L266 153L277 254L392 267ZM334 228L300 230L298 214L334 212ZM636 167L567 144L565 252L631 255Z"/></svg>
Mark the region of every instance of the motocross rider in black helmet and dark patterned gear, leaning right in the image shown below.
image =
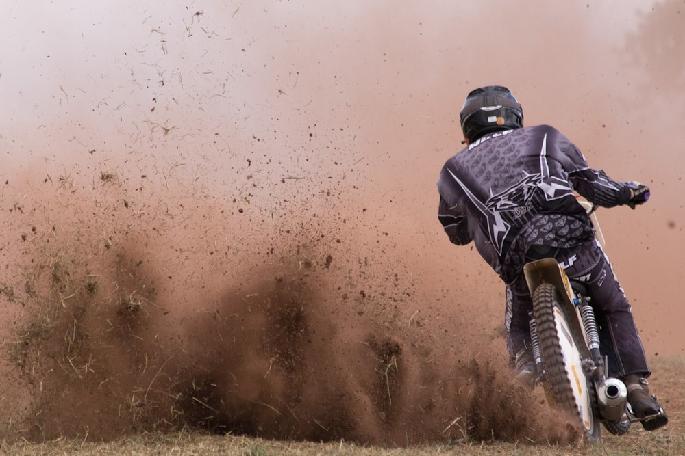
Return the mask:
<svg viewBox="0 0 685 456"><path fill-rule="evenodd" d="M524 127L521 104L507 88L473 90L460 119L466 148L440 172L438 219L452 243L475 241L506 284L507 347L516 377L534 381L532 299L523 265L556 258L588 289L601 344L609 348L609 374L625 382L633 413L655 416L643 421L645 429L662 427L668 419L647 388L651 371L630 304L574 193L598 206L635 209L649 198L649 187L588 167L582 152L552 126Z"/></svg>

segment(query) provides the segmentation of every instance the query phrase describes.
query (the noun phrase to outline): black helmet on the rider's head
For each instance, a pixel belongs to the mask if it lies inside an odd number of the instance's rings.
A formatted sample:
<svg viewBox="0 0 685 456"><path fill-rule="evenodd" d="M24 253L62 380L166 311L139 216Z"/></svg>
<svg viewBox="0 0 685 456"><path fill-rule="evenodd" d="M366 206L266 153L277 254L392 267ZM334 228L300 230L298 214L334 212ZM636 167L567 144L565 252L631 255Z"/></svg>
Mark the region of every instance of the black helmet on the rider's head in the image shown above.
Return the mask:
<svg viewBox="0 0 685 456"><path fill-rule="evenodd" d="M462 132L469 142L495 131L523 126L523 108L512 92L501 85L472 90L460 113Z"/></svg>

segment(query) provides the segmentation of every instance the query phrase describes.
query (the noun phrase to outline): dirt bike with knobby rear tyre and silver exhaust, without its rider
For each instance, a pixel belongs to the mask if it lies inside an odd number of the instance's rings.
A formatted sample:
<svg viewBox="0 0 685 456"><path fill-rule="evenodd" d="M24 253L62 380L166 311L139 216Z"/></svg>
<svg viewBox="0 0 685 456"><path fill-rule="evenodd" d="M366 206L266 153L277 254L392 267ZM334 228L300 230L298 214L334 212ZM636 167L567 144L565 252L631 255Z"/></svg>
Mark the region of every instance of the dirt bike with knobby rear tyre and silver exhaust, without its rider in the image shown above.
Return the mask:
<svg viewBox="0 0 685 456"><path fill-rule="evenodd" d="M579 202L604 247L596 206ZM569 280L554 258L527 263L523 272L533 299L529 325L536 383L543 386L547 402L580 418L582 430L593 442L599 439L599 423L615 435L627 433L637 421L644 421L647 429L647 420L663 410L636 417L627 403L623 381L608 376L608 360L599 344L597 321L584 285Z"/></svg>

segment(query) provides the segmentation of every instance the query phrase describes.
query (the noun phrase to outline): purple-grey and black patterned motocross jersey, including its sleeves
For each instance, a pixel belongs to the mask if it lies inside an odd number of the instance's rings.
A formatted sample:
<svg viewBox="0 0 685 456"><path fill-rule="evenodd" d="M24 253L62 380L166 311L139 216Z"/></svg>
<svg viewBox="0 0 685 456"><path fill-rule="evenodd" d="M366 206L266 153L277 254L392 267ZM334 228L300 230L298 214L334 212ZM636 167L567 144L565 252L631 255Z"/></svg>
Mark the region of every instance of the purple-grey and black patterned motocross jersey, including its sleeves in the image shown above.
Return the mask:
<svg viewBox="0 0 685 456"><path fill-rule="evenodd" d="M450 241L475 241L510 283L532 245L572 247L594 229L575 192L599 206L630 199L626 183L593 170L549 125L486 135L447 160L438 180L438 219Z"/></svg>

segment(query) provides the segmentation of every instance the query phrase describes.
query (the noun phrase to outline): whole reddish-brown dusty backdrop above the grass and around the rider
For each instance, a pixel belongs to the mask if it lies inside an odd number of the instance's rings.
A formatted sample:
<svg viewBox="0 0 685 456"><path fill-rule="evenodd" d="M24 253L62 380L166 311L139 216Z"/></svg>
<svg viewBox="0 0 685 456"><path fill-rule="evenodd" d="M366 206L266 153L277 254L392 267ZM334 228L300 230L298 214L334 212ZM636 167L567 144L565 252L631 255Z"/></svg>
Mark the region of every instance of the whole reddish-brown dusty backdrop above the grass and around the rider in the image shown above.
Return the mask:
<svg viewBox="0 0 685 456"><path fill-rule="evenodd" d="M683 355L683 1L310 3L0 18L3 438L572 438L437 222L491 83L651 186L600 216L649 356Z"/></svg>

